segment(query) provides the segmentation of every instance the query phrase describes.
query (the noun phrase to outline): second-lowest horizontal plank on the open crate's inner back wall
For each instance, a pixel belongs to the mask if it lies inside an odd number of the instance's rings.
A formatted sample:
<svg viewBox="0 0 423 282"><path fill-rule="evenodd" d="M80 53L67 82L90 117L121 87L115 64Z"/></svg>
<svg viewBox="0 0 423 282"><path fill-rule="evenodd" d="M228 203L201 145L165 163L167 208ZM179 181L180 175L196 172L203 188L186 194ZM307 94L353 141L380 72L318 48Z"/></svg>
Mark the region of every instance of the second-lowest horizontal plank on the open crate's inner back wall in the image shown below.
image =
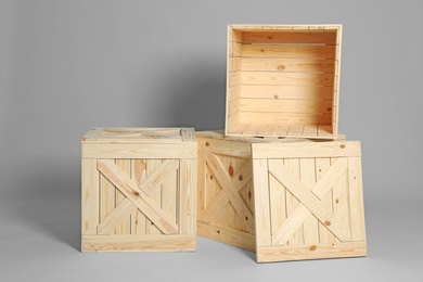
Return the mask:
<svg viewBox="0 0 423 282"><path fill-rule="evenodd" d="M330 114L332 101L241 99L241 112Z"/></svg>

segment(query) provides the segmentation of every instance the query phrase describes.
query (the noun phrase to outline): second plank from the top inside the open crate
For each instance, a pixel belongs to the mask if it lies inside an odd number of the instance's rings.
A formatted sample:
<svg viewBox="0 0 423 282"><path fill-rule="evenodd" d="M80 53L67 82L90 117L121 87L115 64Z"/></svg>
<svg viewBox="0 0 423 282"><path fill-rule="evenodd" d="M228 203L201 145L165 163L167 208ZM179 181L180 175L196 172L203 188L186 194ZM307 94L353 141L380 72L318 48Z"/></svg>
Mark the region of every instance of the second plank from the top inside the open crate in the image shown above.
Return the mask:
<svg viewBox="0 0 423 282"><path fill-rule="evenodd" d="M335 57L335 46L243 44L242 56L247 57Z"/></svg>

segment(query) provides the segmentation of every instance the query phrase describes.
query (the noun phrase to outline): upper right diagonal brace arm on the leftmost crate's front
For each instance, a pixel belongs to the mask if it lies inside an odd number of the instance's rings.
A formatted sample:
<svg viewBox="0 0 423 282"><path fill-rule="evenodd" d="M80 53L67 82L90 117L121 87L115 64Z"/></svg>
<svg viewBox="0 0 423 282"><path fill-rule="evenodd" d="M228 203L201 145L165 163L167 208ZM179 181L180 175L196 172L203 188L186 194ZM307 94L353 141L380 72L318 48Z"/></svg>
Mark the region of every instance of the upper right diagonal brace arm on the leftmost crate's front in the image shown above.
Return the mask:
<svg viewBox="0 0 423 282"><path fill-rule="evenodd" d="M152 161L149 161L150 163ZM150 195L155 189L161 188L167 180L167 176L172 174L179 166L178 159L164 159L163 163L157 164L157 167L150 167L149 176L141 182L139 188Z"/></svg>

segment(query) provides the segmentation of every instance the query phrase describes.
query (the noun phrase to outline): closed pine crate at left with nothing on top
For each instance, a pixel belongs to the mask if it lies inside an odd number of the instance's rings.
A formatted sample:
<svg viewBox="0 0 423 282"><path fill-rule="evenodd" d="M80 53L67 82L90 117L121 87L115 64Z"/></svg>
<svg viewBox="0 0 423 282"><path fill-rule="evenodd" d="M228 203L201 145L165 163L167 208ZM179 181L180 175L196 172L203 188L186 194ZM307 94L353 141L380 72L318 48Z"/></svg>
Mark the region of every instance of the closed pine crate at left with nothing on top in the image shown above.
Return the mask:
<svg viewBox="0 0 423 282"><path fill-rule="evenodd" d="M82 252L195 251L191 128L93 128L82 138Z"/></svg>

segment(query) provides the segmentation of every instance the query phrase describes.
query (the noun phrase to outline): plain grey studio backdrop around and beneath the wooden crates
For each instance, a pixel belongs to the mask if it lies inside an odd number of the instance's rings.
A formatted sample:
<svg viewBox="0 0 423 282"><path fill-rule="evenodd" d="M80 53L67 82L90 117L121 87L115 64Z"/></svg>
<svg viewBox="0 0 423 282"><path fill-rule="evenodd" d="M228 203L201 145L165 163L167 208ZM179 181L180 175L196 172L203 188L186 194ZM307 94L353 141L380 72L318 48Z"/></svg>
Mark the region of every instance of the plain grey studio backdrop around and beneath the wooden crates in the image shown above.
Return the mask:
<svg viewBox="0 0 423 282"><path fill-rule="evenodd" d="M423 1L0 0L1 281L423 281ZM223 127L229 23L344 25L339 132L362 142L369 256L257 265L81 254L92 126Z"/></svg>

